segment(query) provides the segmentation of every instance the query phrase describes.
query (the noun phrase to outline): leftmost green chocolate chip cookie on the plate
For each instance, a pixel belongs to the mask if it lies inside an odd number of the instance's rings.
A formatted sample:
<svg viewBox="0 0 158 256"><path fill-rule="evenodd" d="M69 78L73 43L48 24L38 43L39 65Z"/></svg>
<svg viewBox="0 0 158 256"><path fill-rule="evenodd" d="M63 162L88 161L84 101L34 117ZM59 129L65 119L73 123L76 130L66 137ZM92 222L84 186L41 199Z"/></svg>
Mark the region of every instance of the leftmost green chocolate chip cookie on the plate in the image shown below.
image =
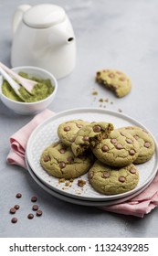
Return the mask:
<svg viewBox="0 0 158 256"><path fill-rule="evenodd" d="M70 147L58 142L43 151L40 164L49 175L69 179L87 173L93 164L93 157L91 153L76 157Z"/></svg>

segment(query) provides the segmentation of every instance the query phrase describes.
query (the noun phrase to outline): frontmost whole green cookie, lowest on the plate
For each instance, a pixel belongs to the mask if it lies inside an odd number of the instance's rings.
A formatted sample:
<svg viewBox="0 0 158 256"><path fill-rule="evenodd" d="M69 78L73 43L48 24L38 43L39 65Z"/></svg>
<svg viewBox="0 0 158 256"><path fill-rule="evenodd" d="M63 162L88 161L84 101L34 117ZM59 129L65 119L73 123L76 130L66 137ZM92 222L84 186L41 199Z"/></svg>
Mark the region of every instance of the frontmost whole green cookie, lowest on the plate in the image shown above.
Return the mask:
<svg viewBox="0 0 158 256"><path fill-rule="evenodd" d="M125 193L135 188L139 181L139 173L135 165L111 167L97 160L89 171L90 185L105 195Z"/></svg>

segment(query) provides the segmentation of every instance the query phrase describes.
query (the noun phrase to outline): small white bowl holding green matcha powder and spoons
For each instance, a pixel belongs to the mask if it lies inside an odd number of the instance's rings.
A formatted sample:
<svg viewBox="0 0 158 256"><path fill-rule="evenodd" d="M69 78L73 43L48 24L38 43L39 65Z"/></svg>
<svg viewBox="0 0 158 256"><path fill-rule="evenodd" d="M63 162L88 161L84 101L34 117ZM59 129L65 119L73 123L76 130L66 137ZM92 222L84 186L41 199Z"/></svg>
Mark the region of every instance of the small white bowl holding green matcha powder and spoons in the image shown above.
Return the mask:
<svg viewBox="0 0 158 256"><path fill-rule="evenodd" d="M12 111L19 113L19 114L36 114L37 112L41 112L47 108L47 106L54 100L57 89L58 89L58 81L56 78L47 70L40 69L37 67L31 66L23 66L23 67L16 67L13 70L18 73L19 71L26 72L28 75L35 76L39 79L49 79L51 80L52 85L54 86L54 91L44 100L36 101L36 102L20 102L20 101L13 101L7 98L2 93L2 83L3 78L0 76L0 98L1 101L5 104L5 106Z"/></svg>

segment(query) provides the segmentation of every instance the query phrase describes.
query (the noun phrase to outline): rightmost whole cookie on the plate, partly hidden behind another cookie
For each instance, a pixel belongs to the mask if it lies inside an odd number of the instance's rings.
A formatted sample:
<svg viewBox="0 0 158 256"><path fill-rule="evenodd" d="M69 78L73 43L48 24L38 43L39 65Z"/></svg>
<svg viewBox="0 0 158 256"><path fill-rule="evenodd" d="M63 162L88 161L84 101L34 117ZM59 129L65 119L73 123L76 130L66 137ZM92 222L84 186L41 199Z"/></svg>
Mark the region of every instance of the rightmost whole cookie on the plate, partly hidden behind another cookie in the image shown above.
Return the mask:
<svg viewBox="0 0 158 256"><path fill-rule="evenodd" d="M120 130L122 133L123 131L131 133L140 145L139 155L136 160L134 160L134 164L142 164L151 159L155 146L153 137L150 133L137 126L127 126Z"/></svg>

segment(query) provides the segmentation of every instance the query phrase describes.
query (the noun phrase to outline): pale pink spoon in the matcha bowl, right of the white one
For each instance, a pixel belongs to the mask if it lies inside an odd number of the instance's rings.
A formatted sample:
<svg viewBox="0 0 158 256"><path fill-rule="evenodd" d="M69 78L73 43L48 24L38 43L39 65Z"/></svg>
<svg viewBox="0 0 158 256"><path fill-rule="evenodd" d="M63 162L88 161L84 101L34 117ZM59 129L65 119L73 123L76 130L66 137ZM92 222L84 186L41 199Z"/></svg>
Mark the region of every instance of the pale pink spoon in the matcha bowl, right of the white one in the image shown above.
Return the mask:
<svg viewBox="0 0 158 256"><path fill-rule="evenodd" d="M37 81L28 80L28 79L25 79L25 78L19 76L12 69L7 68L2 62L0 62L0 67L2 69L4 69L5 72L8 73L10 76L12 76L14 79L16 79L17 82L19 82L20 85L26 89L26 91L28 91L30 94L32 94L31 91L33 90L34 86L37 84Z"/></svg>

